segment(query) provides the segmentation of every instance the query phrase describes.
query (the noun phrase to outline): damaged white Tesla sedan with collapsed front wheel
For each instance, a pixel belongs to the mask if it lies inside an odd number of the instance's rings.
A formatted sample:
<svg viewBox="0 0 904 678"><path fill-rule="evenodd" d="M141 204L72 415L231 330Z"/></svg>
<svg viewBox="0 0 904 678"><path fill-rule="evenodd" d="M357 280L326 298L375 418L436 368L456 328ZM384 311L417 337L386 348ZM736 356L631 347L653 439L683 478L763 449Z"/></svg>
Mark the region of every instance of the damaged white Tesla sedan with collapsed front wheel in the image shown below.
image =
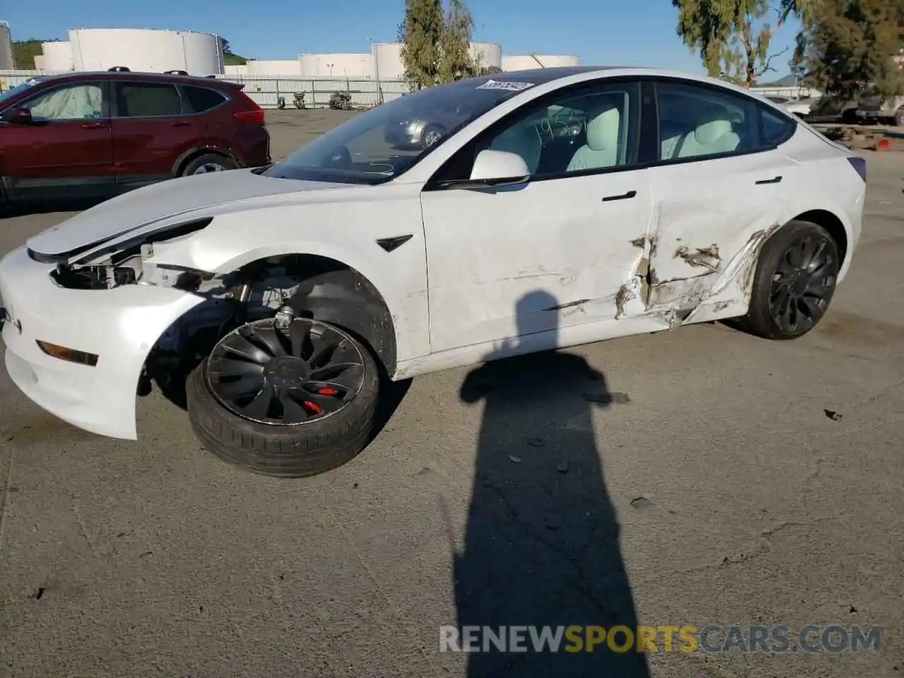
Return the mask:
<svg viewBox="0 0 904 678"><path fill-rule="evenodd" d="M6 369L117 438L137 436L137 392L186 375L205 447L312 475L366 445L381 376L726 318L805 334L851 266L865 188L862 158L717 80L462 80L28 240L0 263Z"/></svg>

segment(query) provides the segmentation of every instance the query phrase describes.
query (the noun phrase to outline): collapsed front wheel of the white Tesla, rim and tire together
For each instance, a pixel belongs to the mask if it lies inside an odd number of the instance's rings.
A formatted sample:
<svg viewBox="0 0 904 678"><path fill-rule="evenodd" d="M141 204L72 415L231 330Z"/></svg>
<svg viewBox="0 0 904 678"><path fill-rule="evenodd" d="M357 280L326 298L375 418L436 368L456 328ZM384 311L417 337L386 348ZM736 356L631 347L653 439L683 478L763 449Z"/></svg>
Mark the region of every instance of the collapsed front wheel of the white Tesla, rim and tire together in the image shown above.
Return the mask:
<svg viewBox="0 0 904 678"><path fill-rule="evenodd" d="M380 379L371 353L339 327L273 319L226 334L192 372L192 428L214 455L264 476L324 473L367 444Z"/></svg>

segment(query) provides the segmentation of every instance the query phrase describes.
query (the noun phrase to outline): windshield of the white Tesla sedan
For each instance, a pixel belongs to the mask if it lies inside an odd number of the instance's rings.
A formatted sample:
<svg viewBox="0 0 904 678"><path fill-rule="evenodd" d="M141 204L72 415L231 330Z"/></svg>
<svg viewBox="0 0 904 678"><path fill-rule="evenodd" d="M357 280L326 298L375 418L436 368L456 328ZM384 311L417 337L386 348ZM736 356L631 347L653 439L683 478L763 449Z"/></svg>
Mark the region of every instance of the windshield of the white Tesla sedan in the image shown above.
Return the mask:
<svg viewBox="0 0 904 678"><path fill-rule="evenodd" d="M418 163L461 127L533 84L484 77L420 89L334 127L264 175L382 184Z"/></svg>

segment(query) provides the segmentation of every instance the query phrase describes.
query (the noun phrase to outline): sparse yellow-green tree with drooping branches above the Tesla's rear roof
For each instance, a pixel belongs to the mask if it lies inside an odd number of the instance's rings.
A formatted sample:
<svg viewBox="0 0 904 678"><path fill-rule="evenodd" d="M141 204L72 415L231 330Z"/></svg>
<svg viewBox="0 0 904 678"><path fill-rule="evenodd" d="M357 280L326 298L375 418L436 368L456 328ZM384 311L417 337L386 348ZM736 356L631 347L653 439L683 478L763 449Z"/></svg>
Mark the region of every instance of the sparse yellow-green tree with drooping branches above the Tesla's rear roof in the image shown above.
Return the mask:
<svg viewBox="0 0 904 678"><path fill-rule="evenodd" d="M805 24L817 0L672 0L678 8L677 33L700 52L706 71L746 87L767 71L781 52L769 52L778 26L791 15Z"/></svg>

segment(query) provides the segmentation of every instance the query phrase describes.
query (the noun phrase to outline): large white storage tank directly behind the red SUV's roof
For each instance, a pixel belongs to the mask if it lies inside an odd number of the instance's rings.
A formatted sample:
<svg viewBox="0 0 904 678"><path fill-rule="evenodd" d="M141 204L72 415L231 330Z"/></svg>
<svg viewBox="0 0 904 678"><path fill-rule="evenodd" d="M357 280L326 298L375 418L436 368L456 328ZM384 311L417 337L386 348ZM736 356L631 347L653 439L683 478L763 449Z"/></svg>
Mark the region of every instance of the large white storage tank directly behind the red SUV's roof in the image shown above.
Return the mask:
<svg viewBox="0 0 904 678"><path fill-rule="evenodd" d="M220 37L212 33L150 28L81 28L69 32L76 71L223 72Z"/></svg>

